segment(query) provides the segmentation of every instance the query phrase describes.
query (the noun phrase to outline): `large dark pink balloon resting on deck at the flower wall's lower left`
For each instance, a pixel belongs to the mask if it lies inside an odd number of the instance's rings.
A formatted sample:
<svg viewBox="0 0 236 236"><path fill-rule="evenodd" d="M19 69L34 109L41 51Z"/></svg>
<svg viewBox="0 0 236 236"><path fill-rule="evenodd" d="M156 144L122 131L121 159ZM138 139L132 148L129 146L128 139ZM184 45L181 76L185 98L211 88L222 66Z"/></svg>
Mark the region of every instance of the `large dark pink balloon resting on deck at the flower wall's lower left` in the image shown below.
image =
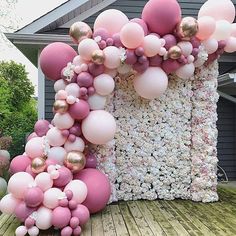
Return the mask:
<svg viewBox="0 0 236 236"><path fill-rule="evenodd" d="M111 186L106 175L99 170L88 168L76 174L75 179L82 180L88 188L88 195L83 205L89 209L90 213L102 210L111 195Z"/></svg>

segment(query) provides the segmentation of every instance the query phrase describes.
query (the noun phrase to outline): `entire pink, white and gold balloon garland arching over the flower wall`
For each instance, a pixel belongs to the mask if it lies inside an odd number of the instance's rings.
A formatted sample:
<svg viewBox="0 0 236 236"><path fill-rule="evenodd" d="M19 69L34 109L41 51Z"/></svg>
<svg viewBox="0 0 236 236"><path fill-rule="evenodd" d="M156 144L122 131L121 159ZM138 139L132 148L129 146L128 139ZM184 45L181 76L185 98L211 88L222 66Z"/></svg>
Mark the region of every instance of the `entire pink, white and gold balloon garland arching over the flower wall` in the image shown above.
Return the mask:
<svg viewBox="0 0 236 236"><path fill-rule="evenodd" d="M46 46L39 60L55 81L55 116L51 124L35 124L25 153L11 162L9 194L0 202L3 213L24 222L16 235L34 236L52 226L62 236L80 235L90 213L102 210L111 194L89 145L114 138L116 122L104 107L116 75L134 74L135 91L158 98L169 74L187 80L195 68L236 51L234 18L230 0L208 0L198 19L181 19L176 0L150 0L140 19L110 9L97 17L94 32L84 22L74 23L70 36L78 54L64 43Z"/></svg>

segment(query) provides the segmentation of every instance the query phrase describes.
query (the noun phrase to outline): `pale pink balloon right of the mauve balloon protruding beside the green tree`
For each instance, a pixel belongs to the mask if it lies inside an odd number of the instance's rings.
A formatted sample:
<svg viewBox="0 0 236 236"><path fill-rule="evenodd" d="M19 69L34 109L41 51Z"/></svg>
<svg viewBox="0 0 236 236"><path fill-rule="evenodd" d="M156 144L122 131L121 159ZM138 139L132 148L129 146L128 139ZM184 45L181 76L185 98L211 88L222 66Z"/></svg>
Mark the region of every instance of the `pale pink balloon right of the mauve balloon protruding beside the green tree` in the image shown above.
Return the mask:
<svg viewBox="0 0 236 236"><path fill-rule="evenodd" d="M66 137L64 137L61 133L61 130L56 127L51 128L47 132L46 137L48 143L53 147L60 147L66 142Z"/></svg>

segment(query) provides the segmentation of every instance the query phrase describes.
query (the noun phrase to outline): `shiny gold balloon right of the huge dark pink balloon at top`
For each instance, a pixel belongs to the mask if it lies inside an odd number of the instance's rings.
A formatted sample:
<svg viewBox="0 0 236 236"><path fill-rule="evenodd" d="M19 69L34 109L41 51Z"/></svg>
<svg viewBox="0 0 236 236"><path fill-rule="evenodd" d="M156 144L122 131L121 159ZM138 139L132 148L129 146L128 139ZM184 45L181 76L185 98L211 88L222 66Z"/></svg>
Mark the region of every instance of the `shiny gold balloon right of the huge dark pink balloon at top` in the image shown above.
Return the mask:
<svg viewBox="0 0 236 236"><path fill-rule="evenodd" d="M198 22L193 17L184 17L177 25L177 34L182 40L190 40L198 32Z"/></svg>

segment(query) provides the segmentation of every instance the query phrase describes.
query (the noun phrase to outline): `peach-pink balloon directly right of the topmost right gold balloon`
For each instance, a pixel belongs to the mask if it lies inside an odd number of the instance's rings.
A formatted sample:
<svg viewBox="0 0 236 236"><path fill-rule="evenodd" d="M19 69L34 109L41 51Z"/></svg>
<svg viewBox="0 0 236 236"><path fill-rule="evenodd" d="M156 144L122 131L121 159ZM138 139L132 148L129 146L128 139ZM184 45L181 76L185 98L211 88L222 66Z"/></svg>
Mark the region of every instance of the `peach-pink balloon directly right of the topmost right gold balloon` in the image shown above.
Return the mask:
<svg viewBox="0 0 236 236"><path fill-rule="evenodd" d="M198 33L196 37L200 40L206 40L214 33L216 22L210 16L203 16L198 19Z"/></svg>

